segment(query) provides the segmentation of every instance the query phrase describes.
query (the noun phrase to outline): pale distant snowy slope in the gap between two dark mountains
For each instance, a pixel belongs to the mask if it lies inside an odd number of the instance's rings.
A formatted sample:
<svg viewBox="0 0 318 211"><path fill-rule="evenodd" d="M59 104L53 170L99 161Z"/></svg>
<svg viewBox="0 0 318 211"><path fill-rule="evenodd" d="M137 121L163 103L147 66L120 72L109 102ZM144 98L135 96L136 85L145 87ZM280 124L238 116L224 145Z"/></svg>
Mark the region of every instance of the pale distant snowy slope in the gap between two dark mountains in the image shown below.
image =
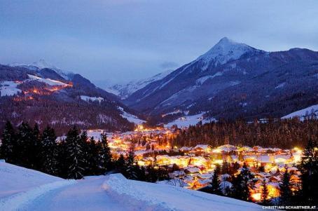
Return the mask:
<svg viewBox="0 0 318 211"><path fill-rule="evenodd" d="M125 84L116 84L113 86L109 86L109 88L106 88L105 90L108 91L109 93L113 93L115 95L120 96L121 99L126 99L132 93L136 92L137 90L141 88L144 88L149 83L153 83L154 81L158 81L160 79L165 78L165 76L167 76L171 72L173 72L173 70L167 70L160 74L156 74L155 76L152 76L148 79L134 80Z"/></svg>

